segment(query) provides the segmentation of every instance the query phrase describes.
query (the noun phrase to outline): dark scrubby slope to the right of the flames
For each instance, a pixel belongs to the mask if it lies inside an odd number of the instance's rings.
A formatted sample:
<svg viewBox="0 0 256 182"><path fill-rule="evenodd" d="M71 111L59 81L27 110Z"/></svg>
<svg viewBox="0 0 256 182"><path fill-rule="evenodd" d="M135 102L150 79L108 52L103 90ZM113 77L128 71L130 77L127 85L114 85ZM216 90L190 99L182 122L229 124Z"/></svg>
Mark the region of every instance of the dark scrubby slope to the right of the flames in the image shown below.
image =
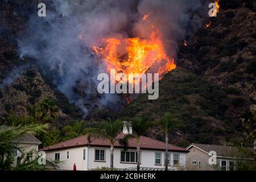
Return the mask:
<svg viewBox="0 0 256 182"><path fill-rule="evenodd" d="M242 142L241 118L250 117L256 101L255 4L221 6L217 17L205 20L208 28L188 38L188 46L180 44L177 69L160 81L159 99L139 96L119 116L158 120L167 111L177 114L170 135L181 146ZM159 131L148 134L161 138Z"/></svg>

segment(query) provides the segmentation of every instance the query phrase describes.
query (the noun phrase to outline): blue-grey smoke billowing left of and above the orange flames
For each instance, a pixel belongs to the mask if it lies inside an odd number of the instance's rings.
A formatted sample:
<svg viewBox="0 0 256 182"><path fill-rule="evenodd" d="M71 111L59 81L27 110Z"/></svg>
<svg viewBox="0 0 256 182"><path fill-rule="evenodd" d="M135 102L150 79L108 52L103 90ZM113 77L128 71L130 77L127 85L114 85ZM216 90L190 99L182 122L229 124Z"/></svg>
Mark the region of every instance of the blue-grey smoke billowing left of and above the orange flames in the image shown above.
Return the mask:
<svg viewBox="0 0 256 182"><path fill-rule="evenodd" d="M162 33L166 53L175 55L177 44L201 26L197 16L202 6L199 0L53 2L45 1L46 17L31 14L28 34L20 35L20 55L35 57L36 64L52 77L57 88L85 114L88 104L114 105L119 101L117 95L96 93L97 75L106 72L104 61L96 59L90 49L99 39L110 36L147 39L148 27L155 24ZM55 10L49 10L49 6ZM143 15L151 11L148 20L143 21Z"/></svg>

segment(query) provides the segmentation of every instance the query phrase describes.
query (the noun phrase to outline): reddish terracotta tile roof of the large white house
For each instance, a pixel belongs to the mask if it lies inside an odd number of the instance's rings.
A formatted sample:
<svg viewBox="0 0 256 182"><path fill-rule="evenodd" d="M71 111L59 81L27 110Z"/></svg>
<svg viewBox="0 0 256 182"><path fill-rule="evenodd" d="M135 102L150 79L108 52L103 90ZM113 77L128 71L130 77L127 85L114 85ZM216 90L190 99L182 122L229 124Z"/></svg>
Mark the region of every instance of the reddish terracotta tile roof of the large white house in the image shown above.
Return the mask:
<svg viewBox="0 0 256 182"><path fill-rule="evenodd" d="M123 138L125 134L121 133L118 135L117 139ZM119 144L118 140L115 140L114 147L122 147ZM129 139L128 148L136 148L137 142L135 138ZM165 143L156 139L141 137L140 138L141 149L147 150L165 150ZM102 147L110 147L110 143L107 139L104 138L91 138L90 142L88 141L87 135L82 135L81 137L73 138L61 143L54 144L49 147L41 148L40 150L49 151L49 150L57 150L61 148L69 148L69 147L78 147L78 146L102 146ZM177 152L189 152L187 149L174 146L173 144L168 144L169 151L177 151Z"/></svg>

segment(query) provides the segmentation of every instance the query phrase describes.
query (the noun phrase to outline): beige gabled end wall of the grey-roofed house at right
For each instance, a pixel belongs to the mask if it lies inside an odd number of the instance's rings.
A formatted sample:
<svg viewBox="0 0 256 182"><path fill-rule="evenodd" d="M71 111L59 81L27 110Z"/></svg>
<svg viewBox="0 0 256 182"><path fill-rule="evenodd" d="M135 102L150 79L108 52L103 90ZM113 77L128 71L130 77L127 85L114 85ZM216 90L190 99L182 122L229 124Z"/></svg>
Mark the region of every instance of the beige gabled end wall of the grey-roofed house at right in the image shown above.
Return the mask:
<svg viewBox="0 0 256 182"><path fill-rule="evenodd" d="M205 152L195 148L191 147L189 148L189 151L187 153L187 170L193 170L193 171L211 171L216 170L216 165L210 165L209 164L209 155ZM192 164L192 161L196 161L196 164ZM199 168L198 162L201 162L201 167Z"/></svg>

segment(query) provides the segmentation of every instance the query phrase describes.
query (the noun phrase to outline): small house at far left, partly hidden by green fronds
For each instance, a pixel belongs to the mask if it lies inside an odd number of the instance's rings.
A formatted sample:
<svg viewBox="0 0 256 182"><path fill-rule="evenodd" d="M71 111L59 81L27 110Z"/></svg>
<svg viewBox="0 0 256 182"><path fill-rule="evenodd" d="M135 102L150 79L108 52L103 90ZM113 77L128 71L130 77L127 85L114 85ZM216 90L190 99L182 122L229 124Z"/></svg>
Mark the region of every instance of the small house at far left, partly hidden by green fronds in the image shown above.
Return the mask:
<svg viewBox="0 0 256 182"><path fill-rule="evenodd" d="M41 142L40 142L39 139L34 137L34 135L23 134L17 140L14 140L14 143L18 147L14 150L14 156L15 157L18 157L18 156L22 155L22 152L24 154L27 154L30 151L33 151L33 157L35 157L36 153L38 152L38 145Z"/></svg>

